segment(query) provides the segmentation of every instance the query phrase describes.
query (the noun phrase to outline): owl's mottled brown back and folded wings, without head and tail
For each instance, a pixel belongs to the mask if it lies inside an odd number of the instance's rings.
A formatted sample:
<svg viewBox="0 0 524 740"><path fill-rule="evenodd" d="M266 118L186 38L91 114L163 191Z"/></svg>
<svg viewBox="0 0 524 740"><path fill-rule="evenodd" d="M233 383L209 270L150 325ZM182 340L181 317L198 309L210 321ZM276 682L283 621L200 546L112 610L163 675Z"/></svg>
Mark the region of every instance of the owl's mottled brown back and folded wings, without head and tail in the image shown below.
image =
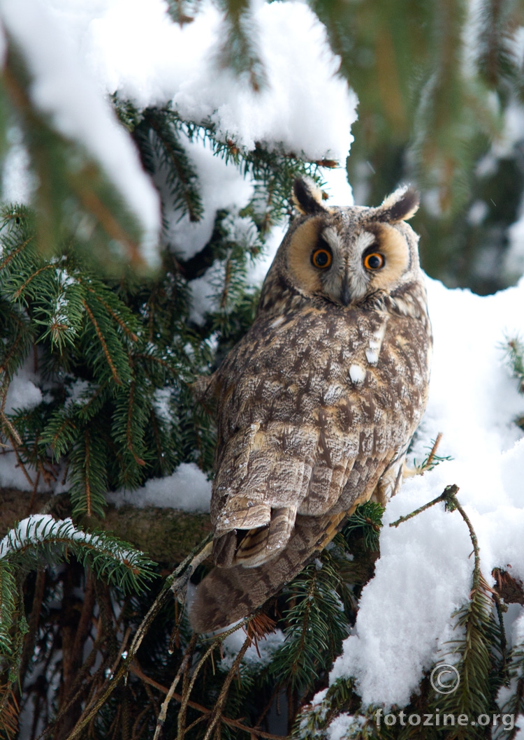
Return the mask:
<svg viewBox="0 0 524 740"><path fill-rule="evenodd" d="M349 512L370 497L420 421L427 344L423 322L362 308L255 321L215 380L219 565L261 565L297 514Z"/></svg>

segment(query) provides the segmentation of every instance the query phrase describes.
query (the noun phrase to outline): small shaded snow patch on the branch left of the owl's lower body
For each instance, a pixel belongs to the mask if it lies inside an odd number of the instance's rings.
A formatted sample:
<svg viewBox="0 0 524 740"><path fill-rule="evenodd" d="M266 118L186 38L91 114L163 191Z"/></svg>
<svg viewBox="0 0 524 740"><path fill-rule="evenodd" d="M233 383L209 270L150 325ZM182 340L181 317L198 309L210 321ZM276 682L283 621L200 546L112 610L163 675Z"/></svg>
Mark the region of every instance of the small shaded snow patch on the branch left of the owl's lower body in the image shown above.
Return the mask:
<svg viewBox="0 0 524 740"><path fill-rule="evenodd" d="M135 491L115 491L107 500L116 506L130 504L175 508L181 511L209 511L211 482L194 462L182 462L165 478L151 478Z"/></svg>

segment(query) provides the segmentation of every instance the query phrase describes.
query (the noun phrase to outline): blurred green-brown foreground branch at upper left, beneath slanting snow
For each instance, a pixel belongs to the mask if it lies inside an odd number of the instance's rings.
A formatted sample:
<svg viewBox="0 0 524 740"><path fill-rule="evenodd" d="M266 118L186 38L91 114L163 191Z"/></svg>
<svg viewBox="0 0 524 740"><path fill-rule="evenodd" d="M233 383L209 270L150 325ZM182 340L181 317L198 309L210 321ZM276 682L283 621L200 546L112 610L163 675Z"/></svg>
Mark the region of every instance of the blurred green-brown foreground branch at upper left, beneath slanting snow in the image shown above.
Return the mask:
<svg viewBox="0 0 524 740"><path fill-rule="evenodd" d="M7 127L14 121L23 129L38 182L34 218L39 249L53 255L57 243L75 238L80 254L93 256L112 272L118 272L121 264L120 249L135 269L144 270L139 249L141 228L135 215L101 166L36 110L28 92L30 84L27 64L16 44L10 42L0 87L0 138L5 147Z"/></svg>

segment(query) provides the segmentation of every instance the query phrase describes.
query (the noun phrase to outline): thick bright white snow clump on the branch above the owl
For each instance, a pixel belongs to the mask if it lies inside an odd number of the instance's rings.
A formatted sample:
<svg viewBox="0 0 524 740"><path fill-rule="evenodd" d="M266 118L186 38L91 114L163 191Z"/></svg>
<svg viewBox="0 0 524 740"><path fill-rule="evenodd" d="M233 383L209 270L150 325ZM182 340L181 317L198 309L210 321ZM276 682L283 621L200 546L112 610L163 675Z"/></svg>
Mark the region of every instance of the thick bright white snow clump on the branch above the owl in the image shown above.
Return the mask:
<svg viewBox="0 0 524 740"><path fill-rule="evenodd" d="M224 141L233 138L248 149L256 141L282 142L313 159L345 161L357 98L337 74L340 59L306 4L260 3L253 9L267 80L260 93L218 68L216 52L226 30L221 11L209 1L183 27L169 20L162 0L78 0L74 10L68 0L47 5L101 89L138 107L171 101L184 118L211 118Z"/></svg>

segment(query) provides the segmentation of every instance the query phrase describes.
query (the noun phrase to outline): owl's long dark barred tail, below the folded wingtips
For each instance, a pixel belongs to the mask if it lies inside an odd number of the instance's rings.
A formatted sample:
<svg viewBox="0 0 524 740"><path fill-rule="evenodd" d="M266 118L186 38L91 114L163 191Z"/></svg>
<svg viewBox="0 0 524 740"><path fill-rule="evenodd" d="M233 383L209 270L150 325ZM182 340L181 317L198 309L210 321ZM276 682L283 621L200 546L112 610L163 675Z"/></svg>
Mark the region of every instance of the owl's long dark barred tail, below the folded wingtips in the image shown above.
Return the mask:
<svg viewBox="0 0 524 740"><path fill-rule="evenodd" d="M197 586L189 613L193 630L218 630L255 611L326 547L346 518L346 513L299 515L288 545L269 562L257 568L214 568Z"/></svg>

